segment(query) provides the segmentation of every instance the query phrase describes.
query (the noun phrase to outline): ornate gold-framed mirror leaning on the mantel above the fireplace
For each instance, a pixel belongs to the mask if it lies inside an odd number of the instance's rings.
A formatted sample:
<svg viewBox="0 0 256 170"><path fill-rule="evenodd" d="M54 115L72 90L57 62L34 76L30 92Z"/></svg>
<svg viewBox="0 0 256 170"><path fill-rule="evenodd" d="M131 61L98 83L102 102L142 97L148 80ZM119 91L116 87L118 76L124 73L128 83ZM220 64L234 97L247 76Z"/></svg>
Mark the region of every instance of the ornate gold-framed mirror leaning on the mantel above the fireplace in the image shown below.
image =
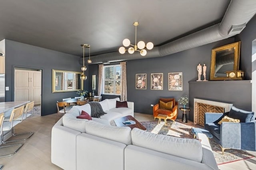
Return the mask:
<svg viewBox="0 0 256 170"><path fill-rule="evenodd" d="M239 70L240 41L212 49L210 80L227 80L226 71Z"/></svg>

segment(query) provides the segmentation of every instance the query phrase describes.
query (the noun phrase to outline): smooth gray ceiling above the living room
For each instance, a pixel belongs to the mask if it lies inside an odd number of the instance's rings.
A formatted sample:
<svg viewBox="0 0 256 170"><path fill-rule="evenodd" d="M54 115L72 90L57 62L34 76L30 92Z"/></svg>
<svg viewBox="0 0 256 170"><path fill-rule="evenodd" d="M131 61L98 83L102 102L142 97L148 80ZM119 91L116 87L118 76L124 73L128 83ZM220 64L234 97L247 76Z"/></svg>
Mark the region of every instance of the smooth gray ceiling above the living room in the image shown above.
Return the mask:
<svg viewBox="0 0 256 170"><path fill-rule="evenodd" d="M230 0L0 0L0 40L82 56L115 52L124 38L162 45L219 23ZM149 52L148 52L149 53Z"/></svg>

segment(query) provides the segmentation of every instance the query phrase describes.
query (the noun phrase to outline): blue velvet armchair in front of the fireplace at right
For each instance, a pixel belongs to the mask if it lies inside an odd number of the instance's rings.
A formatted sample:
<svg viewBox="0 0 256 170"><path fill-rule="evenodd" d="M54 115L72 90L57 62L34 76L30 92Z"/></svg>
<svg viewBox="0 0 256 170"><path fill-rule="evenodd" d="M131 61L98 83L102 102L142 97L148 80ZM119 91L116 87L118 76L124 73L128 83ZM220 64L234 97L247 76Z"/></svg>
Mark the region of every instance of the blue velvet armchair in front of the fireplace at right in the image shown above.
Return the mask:
<svg viewBox="0 0 256 170"><path fill-rule="evenodd" d="M219 125L218 122L225 115L233 116L234 119L240 117L241 123L222 122ZM244 111L233 106L230 112L227 113L205 113L204 128L212 133L213 139L222 149L222 154L224 154L225 149L256 151L256 120L254 112Z"/></svg>

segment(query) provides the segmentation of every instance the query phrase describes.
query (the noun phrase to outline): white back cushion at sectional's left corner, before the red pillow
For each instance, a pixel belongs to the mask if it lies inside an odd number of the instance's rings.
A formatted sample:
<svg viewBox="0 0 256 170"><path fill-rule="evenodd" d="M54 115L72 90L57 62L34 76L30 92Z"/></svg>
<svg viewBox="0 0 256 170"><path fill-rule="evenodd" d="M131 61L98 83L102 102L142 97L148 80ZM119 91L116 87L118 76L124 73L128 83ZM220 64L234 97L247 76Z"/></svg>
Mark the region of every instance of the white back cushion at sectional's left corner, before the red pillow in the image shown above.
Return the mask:
<svg viewBox="0 0 256 170"><path fill-rule="evenodd" d="M87 119L77 119L76 116L69 113L64 114L62 118L64 127L68 127L82 133L85 132L85 124L87 121Z"/></svg>

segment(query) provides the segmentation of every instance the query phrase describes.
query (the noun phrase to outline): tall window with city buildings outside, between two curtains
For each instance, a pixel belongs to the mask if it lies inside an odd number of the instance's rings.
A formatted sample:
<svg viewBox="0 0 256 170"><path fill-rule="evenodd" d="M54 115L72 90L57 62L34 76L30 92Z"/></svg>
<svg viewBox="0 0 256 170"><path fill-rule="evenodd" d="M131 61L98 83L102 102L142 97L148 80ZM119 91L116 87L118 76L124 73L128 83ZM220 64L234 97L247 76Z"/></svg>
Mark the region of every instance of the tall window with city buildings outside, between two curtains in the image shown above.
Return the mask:
<svg viewBox="0 0 256 170"><path fill-rule="evenodd" d="M104 66L103 94L121 95L121 66Z"/></svg>

